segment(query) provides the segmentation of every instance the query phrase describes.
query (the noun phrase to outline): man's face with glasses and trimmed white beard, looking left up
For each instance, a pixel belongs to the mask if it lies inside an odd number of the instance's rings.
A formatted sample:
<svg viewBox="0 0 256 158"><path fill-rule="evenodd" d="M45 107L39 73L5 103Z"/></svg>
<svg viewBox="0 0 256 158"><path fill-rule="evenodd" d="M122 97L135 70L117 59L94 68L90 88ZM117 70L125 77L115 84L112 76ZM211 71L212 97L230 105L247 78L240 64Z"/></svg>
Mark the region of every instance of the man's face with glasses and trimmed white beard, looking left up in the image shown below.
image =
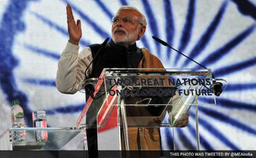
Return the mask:
<svg viewBox="0 0 256 158"><path fill-rule="evenodd" d="M146 30L146 26L140 24L141 15L137 11L124 9L116 14L118 22L112 25L112 39L116 44L132 45L140 39ZM132 22L124 22L122 19L130 19Z"/></svg>

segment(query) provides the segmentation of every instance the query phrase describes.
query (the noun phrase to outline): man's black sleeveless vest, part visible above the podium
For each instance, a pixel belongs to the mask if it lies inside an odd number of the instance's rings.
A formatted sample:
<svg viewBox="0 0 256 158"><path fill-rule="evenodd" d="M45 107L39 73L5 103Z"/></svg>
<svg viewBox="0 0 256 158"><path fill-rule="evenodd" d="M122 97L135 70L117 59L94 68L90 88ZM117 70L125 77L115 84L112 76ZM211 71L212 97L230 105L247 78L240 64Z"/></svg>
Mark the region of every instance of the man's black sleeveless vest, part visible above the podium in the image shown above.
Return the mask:
<svg viewBox="0 0 256 158"><path fill-rule="evenodd" d="M93 44L89 47L92 57L95 58L101 44ZM104 68L136 68L142 56L141 49L136 46L136 43L127 48L111 40L94 59L90 78L98 78Z"/></svg>

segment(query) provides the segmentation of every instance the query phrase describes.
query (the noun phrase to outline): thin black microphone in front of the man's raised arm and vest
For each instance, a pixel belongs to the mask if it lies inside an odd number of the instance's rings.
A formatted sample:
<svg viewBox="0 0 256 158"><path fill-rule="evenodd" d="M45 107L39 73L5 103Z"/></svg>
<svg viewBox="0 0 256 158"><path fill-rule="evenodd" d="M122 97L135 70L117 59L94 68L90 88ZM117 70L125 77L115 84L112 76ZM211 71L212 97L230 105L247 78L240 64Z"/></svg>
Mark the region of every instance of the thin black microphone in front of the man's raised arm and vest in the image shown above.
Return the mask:
<svg viewBox="0 0 256 158"><path fill-rule="evenodd" d="M98 56L98 54L102 51L102 49L106 46L107 42L109 41L109 38L106 38L104 40L104 42L101 44L100 49L98 49L96 55L94 56L94 58L92 59L92 61L90 62L90 64L87 66L86 71L84 72L84 75L87 78L87 70L89 69L89 67L91 66L92 62L95 60L95 58ZM89 94L89 96L91 96L93 98L93 100L95 99L95 97L93 96L93 93L95 92L95 84L93 84L92 80L87 80L84 83L84 89L86 90L86 92Z"/></svg>

